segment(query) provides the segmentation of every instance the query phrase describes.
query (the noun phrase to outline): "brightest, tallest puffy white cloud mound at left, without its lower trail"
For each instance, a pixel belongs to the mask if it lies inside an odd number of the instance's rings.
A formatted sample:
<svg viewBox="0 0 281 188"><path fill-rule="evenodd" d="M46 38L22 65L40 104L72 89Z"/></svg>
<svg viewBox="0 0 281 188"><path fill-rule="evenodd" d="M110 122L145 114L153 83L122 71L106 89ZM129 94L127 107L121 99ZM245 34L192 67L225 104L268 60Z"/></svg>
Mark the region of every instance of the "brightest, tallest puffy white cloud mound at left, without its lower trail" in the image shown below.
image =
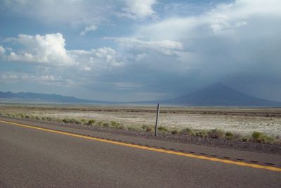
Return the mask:
<svg viewBox="0 0 281 188"><path fill-rule="evenodd" d="M67 54L65 39L60 33L47 35L18 35L10 39L20 44L21 49L7 56L9 61L26 61L52 65L73 65L75 62Z"/></svg>

